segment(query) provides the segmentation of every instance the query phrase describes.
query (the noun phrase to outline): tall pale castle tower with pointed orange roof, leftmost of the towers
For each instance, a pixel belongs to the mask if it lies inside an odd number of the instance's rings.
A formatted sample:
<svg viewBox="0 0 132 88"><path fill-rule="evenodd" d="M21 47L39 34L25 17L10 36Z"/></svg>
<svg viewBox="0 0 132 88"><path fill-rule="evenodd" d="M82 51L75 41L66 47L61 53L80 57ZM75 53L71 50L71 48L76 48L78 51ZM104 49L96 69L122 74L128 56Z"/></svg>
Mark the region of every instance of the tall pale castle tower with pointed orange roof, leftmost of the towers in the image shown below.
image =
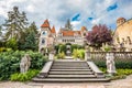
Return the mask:
<svg viewBox="0 0 132 88"><path fill-rule="evenodd" d="M48 20L45 20L44 23L41 25L38 52L41 52L47 46L48 35L51 35L50 22Z"/></svg>

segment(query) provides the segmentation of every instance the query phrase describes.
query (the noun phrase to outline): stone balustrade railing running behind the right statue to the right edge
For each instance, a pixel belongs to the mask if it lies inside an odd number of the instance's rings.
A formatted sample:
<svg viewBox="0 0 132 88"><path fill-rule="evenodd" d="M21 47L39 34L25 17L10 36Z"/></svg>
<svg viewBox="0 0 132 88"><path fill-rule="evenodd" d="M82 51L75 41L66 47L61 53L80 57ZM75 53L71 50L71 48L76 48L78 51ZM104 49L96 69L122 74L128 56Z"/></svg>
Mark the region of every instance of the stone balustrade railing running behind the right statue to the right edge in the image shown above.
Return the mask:
<svg viewBox="0 0 132 88"><path fill-rule="evenodd" d="M113 53L116 61L119 61L119 59L132 61L132 52L87 52L86 54L91 59L106 61L107 53Z"/></svg>

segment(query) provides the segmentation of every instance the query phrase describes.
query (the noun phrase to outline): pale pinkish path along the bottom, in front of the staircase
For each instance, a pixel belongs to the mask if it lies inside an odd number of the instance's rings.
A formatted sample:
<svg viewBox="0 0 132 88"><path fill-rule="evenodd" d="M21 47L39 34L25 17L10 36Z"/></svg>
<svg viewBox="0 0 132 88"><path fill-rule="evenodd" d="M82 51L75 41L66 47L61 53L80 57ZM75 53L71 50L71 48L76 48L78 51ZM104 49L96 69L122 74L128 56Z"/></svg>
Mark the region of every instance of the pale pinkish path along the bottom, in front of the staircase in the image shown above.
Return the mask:
<svg viewBox="0 0 132 88"><path fill-rule="evenodd" d="M132 75L111 82L33 84L1 81L0 88L132 88Z"/></svg>

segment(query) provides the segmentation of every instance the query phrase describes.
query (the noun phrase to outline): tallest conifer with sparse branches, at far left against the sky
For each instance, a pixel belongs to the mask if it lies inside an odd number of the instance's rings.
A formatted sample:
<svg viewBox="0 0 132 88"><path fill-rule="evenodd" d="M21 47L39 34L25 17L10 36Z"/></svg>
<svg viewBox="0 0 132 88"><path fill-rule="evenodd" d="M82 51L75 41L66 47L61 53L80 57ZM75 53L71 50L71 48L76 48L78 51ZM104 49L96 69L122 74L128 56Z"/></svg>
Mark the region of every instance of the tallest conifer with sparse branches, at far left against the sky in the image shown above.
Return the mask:
<svg viewBox="0 0 132 88"><path fill-rule="evenodd" d="M19 12L18 7L13 7L13 11L8 12L8 20L3 24L6 26L6 38L16 37L16 41L21 38L21 34L25 31L28 19L25 13Z"/></svg>

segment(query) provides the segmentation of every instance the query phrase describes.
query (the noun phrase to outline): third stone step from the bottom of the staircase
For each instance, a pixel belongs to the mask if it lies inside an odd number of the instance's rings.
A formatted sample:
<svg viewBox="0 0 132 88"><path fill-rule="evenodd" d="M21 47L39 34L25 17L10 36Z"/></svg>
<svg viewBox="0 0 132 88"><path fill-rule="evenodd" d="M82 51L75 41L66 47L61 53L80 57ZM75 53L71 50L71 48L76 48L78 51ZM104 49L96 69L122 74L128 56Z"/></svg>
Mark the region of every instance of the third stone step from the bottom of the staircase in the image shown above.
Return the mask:
<svg viewBox="0 0 132 88"><path fill-rule="evenodd" d="M92 75L92 72L50 72L50 75Z"/></svg>

